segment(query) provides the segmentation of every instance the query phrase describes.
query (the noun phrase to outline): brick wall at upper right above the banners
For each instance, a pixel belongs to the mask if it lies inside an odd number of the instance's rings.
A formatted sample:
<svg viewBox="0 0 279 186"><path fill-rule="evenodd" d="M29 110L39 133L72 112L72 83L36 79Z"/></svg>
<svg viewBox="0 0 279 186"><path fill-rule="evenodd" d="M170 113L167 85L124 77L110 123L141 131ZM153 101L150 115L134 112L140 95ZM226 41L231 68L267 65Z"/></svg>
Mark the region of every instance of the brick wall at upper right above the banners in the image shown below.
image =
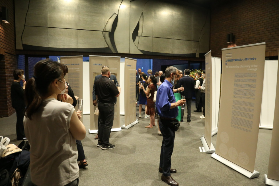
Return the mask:
<svg viewBox="0 0 279 186"><path fill-rule="evenodd" d="M226 43L233 33L235 42ZM222 57L222 48L266 42L266 57L277 56L279 41L278 0L235 0L211 3L210 50Z"/></svg>

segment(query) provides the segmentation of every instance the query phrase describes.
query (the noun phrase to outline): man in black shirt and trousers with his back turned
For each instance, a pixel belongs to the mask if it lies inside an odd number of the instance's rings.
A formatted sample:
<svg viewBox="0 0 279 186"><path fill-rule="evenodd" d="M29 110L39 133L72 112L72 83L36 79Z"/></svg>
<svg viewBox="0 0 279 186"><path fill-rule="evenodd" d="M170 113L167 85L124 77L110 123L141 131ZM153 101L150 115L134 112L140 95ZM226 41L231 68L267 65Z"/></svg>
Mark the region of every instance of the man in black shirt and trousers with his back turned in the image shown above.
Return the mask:
<svg viewBox="0 0 279 186"><path fill-rule="evenodd" d="M110 144L109 137L114 119L114 103L120 95L120 87L116 87L110 79L110 70L102 68L102 77L95 82L95 95L98 99L99 109L99 141L97 146L103 150L113 149L115 145Z"/></svg>

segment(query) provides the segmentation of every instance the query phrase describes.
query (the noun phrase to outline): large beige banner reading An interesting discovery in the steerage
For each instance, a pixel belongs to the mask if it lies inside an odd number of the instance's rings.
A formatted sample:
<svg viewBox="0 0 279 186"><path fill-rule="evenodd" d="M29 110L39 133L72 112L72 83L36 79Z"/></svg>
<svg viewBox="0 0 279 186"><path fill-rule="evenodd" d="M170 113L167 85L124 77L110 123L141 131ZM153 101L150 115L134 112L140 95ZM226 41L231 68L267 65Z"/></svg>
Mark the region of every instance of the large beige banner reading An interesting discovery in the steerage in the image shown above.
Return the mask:
<svg viewBox="0 0 279 186"><path fill-rule="evenodd" d="M262 103L265 43L222 49L222 89L212 158L249 179L254 170Z"/></svg>

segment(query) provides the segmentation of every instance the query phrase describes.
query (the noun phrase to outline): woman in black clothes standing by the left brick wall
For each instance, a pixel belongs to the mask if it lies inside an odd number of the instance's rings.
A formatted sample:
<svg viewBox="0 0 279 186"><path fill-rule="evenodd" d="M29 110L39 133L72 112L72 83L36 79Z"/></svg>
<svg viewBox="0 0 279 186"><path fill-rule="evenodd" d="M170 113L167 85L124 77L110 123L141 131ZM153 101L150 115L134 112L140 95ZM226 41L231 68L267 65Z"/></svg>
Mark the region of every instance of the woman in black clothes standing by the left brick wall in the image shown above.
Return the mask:
<svg viewBox="0 0 279 186"><path fill-rule="evenodd" d="M26 81L24 80L24 71L21 69L16 69L13 73L14 81L11 87L11 98L12 98L12 107L17 113L17 140L26 140L23 127L23 117L24 117L24 90ZM20 85L20 81L23 82L23 87Z"/></svg>

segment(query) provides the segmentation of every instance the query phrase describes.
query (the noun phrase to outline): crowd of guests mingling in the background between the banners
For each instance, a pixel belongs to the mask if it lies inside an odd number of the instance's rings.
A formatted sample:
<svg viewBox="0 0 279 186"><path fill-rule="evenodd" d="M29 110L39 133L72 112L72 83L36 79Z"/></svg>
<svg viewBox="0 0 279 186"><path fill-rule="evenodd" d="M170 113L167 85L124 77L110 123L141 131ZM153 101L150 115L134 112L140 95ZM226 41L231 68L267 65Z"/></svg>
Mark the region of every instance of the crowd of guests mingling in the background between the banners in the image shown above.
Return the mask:
<svg viewBox="0 0 279 186"><path fill-rule="evenodd" d="M183 122L184 118L184 107L187 108L187 122L191 121L191 104L193 94L196 97L196 110L194 112L202 112L203 115L200 119L205 118L205 70L202 72L195 73L196 80L190 77L190 70L185 69L184 71L179 70L177 73L178 79L173 85L173 93L176 101L180 100L182 96L186 99L186 104L178 107L177 120ZM163 71L155 72L152 75L152 70L147 70L147 74L141 72L139 68L136 70L136 107L139 107L139 118L142 117L141 111L142 106L145 105L144 118L150 116L150 123L145 128L153 128L155 126L155 119L157 119L158 135L162 135L159 128L159 116L155 103L153 102L154 92L157 91L159 86L165 81L165 74ZM138 105L139 104L139 105ZM154 112L155 110L155 112ZM149 116L148 116L149 115Z"/></svg>

